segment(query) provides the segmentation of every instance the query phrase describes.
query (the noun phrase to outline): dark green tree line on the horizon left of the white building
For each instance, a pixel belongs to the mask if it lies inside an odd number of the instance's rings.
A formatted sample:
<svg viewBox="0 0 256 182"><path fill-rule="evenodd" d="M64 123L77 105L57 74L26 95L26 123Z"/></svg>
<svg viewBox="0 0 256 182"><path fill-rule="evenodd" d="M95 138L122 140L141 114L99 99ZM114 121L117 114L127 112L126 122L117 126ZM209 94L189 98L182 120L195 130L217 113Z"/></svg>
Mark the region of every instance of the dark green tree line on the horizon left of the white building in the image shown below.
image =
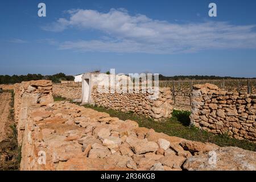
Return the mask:
<svg viewBox="0 0 256 182"><path fill-rule="evenodd" d="M28 74L28 75L0 75L0 84L16 84L22 81L31 80L51 80L53 83L59 83L63 81L73 81L75 77L71 75L65 75L64 73L57 73L55 75L41 75L41 74Z"/></svg>

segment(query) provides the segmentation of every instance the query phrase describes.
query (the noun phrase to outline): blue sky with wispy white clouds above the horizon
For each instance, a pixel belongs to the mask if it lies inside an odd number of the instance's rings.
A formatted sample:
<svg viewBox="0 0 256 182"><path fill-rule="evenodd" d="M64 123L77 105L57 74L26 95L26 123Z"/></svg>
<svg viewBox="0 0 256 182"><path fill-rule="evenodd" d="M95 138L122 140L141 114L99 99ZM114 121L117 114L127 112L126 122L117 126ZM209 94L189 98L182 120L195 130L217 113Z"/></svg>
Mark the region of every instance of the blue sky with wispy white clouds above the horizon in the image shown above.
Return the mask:
<svg viewBox="0 0 256 182"><path fill-rule="evenodd" d="M253 0L1 1L0 75L115 68L256 77L255 8Z"/></svg>

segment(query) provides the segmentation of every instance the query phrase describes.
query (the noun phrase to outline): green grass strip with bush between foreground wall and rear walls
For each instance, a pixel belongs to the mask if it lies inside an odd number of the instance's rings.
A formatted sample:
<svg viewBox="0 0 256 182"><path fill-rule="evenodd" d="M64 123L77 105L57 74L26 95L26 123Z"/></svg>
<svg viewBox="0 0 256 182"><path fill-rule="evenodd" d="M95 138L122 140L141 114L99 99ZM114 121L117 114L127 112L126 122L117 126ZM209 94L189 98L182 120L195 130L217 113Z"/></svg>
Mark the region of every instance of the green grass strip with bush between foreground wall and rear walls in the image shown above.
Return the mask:
<svg viewBox="0 0 256 182"><path fill-rule="evenodd" d="M105 109L104 107L96 107L91 105L84 105L97 111L109 113L111 117L118 117L119 119L131 119L139 123L140 127L154 129L156 132L165 133L170 136L185 138L188 140L195 140L199 142L215 143L221 147L234 146L245 150L256 151L256 143L247 140L238 140L229 138L228 135L214 135L207 131L202 131L196 127L189 126L189 111L174 110L173 117L163 122L156 122L139 116L134 113L123 113L113 109Z"/></svg>

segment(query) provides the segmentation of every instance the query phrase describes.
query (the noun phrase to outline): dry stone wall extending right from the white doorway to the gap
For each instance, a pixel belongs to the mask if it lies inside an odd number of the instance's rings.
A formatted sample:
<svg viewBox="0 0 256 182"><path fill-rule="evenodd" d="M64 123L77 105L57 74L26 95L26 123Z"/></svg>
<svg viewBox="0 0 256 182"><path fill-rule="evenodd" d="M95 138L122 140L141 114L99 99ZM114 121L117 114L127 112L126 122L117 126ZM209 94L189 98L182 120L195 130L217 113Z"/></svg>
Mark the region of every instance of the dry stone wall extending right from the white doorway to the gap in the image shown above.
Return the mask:
<svg viewBox="0 0 256 182"><path fill-rule="evenodd" d="M157 100L150 100L150 93L99 93L94 86L90 96L91 104L123 112L132 111L160 121L170 118L173 110L170 88L160 88Z"/></svg>

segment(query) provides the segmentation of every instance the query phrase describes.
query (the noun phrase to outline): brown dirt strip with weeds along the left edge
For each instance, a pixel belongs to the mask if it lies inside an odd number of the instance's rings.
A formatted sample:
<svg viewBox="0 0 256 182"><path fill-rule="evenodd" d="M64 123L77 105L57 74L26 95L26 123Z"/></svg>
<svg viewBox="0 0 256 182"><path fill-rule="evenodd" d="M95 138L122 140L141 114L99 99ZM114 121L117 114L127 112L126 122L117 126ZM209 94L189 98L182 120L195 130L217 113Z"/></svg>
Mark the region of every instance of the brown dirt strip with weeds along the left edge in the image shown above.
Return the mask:
<svg viewBox="0 0 256 182"><path fill-rule="evenodd" d="M11 102L10 92L0 93L0 171L19 169L19 147L15 121L11 117Z"/></svg>

